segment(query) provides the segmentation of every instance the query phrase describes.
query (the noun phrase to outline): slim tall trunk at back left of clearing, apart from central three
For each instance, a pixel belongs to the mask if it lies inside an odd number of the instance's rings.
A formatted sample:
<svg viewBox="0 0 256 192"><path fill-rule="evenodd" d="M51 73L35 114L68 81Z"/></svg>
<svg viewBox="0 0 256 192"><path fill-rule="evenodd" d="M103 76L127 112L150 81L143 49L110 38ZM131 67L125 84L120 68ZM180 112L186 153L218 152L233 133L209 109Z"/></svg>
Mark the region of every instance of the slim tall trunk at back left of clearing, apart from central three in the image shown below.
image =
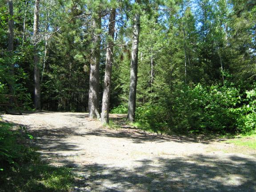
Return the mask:
<svg viewBox="0 0 256 192"><path fill-rule="evenodd" d="M35 1L35 12L34 12L34 35L33 38L36 41L36 36L38 35L39 29L39 1ZM40 90L40 76L39 76L39 56L38 56L38 48L37 42L35 42L34 46L34 81L35 81L35 96L34 96L34 105L36 110L41 109L41 90Z"/></svg>

